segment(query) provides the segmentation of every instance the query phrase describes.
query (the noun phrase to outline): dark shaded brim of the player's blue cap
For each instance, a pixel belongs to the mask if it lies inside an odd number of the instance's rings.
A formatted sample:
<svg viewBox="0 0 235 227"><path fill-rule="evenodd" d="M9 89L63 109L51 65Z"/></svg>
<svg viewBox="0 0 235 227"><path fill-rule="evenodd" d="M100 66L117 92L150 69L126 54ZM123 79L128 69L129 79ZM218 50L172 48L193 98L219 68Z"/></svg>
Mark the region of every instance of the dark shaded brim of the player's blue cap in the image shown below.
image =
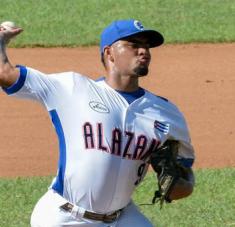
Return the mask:
<svg viewBox="0 0 235 227"><path fill-rule="evenodd" d="M150 48L160 46L164 43L164 38L161 33L155 31L155 30L143 30L138 31L136 33L132 33L130 35L127 35L125 37L122 37L122 39L137 36L137 35L144 35L148 39L148 43Z"/></svg>

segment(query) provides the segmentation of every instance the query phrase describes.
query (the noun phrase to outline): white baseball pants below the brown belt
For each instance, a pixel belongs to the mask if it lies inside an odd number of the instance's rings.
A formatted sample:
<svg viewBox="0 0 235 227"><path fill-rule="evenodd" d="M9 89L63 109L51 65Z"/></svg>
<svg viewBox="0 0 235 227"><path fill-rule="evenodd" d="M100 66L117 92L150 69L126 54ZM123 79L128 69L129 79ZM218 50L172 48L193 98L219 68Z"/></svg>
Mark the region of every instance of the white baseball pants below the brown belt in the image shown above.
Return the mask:
<svg viewBox="0 0 235 227"><path fill-rule="evenodd" d="M133 202L122 210L119 218L113 223L103 223L74 216L59 208L66 202L67 200L53 190L46 192L33 210L31 227L153 227Z"/></svg>

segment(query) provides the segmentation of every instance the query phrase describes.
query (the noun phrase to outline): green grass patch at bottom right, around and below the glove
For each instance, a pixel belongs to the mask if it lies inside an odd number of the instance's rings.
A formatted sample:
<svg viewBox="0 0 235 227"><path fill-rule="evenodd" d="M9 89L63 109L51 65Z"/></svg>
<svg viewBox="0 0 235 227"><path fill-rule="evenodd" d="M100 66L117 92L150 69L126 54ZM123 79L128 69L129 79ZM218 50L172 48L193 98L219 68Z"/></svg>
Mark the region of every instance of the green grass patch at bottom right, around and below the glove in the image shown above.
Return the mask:
<svg viewBox="0 0 235 227"><path fill-rule="evenodd" d="M137 204L150 201L155 177L138 188ZM160 227L225 227L235 226L235 168L196 171L192 196L159 206L141 206L141 210Z"/></svg>

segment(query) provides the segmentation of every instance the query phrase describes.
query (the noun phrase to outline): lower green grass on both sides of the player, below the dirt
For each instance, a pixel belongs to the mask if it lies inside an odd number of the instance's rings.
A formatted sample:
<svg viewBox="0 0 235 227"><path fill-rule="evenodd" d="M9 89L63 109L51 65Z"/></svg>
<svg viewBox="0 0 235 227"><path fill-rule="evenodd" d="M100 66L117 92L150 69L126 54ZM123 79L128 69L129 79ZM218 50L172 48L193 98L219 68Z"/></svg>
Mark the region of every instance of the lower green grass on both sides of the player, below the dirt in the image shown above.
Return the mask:
<svg viewBox="0 0 235 227"><path fill-rule="evenodd" d="M29 226L30 213L38 198L47 190L51 177L0 180L0 226ZM142 205L140 209L160 227L235 226L235 168L197 170L191 197L166 204ZM156 180L148 173L134 194L136 204L152 199Z"/></svg>

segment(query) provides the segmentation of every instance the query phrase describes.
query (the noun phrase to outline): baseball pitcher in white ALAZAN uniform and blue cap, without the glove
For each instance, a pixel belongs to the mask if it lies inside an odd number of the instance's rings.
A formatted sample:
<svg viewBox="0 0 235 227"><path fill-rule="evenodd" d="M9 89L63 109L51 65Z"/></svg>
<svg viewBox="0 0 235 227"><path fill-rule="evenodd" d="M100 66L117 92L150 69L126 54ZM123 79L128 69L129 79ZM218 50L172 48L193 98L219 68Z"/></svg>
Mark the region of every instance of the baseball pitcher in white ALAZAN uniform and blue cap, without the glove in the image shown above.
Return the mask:
<svg viewBox="0 0 235 227"><path fill-rule="evenodd" d="M106 77L97 81L12 66L6 43L21 32L0 28L0 85L10 96L41 103L59 140L58 172L36 204L31 226L153 226L131 196L148 157L169 139L179 141L178 159L187 169L169 198L192 193L194 150L184 117L170 101L139 87L150 48L164 41L159 32L132 19L111 23L100 41Z"/></svg>

